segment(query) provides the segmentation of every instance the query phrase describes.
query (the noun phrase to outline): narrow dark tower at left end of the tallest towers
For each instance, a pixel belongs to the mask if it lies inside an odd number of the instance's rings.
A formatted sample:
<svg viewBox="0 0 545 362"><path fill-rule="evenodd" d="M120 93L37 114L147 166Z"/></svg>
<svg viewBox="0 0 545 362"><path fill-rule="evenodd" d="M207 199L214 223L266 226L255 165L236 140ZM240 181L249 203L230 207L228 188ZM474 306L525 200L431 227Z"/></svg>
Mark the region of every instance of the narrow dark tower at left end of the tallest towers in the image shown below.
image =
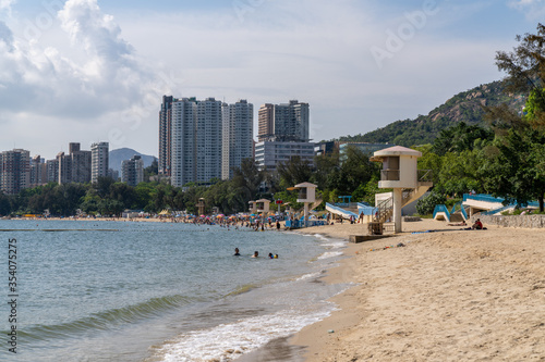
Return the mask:
<svg viewBox="0 0 545 362"><path fill-rule="evenodd" d="M159 175L171 175L172 162L172 103L178 99L172 96L162 96L159 111Z"/></svg>

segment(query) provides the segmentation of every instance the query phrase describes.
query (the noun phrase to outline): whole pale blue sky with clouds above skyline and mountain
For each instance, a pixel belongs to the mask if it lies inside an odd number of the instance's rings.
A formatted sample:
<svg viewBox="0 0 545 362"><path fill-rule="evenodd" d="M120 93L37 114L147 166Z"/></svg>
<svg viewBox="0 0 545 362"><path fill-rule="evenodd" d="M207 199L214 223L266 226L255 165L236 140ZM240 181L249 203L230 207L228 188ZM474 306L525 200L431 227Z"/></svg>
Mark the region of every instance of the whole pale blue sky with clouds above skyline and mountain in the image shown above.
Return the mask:
<svg viewBox="0 0 545 362"><path fill-rule="evenodd" d="M544 0L0 0L0 150L157 154L164 93L299 99L315 140L363 134L500 79L496 51L544 15Z"/></svg>

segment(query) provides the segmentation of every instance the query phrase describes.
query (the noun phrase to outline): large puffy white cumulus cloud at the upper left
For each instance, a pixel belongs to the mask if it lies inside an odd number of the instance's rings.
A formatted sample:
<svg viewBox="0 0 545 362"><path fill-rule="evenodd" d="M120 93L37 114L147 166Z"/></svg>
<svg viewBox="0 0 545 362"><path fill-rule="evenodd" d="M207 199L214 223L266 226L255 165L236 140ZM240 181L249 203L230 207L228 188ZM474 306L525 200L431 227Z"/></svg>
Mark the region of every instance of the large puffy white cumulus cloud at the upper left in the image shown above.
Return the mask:
<svg viewBox="0 0 545 362"><path fill-rule="evenodd" d="M136 132L149 134L145 121L155 115L160 96L170 91L168 79L161 79L159 72L137 57L96 0L69 0L51 21L55 23L47 27L34 24L37 30L28 32L27 26L19 34L0 21L2 128L20 134L17 128L34 120L25 138L37 136L43 145L49 141L43 147L48 157L69 141L110 140L116 148L126 146ZM56 39L61 47L44 41L56 29L65 32L64 41ZM153 105L150 97L155 98ZM53 124L62 127L53 128ZM86 132L81 132L82 125ZM73 132L76 129L80 132ZM29 135L34 132L36 135ZM26 148L43 152L31 145Z"/></svg>

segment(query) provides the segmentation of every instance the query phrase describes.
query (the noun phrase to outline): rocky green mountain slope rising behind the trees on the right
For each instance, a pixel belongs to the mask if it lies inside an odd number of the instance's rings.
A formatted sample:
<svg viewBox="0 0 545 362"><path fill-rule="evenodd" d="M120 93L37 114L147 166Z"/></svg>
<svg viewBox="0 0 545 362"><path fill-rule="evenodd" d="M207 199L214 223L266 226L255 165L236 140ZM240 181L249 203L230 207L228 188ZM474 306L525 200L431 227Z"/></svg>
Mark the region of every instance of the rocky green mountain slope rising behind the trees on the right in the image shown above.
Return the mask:
<svg viewBox="0 0 545 362"><path fill-rule="evenodd" d="M483 107L501 103L520 110L525 103L525 98L520 95L505 95L501 82L493 82L453 96L427 115L419 115L415 120L397 121L364 135L344 136L337 140L389 142L405 147L432 143L443 129L459 122L465 122L468 125L485 125Z"/></svg>

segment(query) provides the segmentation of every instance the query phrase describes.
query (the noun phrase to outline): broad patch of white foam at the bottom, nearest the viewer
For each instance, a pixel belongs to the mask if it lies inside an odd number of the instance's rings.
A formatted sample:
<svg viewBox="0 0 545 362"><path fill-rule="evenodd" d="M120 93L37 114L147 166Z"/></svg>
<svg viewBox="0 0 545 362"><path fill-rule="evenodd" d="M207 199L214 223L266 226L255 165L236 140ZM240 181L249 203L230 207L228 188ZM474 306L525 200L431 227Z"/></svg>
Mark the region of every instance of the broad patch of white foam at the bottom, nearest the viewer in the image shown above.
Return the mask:
<svg viewBox="0 0 545 362"><path fill-rule="evenodd" d="M320 310L308 314L288 310L194 330L179 336L158 354L164 355L165 362L232 361L272 339L288 337L327 317L332 310L332 304L324 303Z"/></svg>

